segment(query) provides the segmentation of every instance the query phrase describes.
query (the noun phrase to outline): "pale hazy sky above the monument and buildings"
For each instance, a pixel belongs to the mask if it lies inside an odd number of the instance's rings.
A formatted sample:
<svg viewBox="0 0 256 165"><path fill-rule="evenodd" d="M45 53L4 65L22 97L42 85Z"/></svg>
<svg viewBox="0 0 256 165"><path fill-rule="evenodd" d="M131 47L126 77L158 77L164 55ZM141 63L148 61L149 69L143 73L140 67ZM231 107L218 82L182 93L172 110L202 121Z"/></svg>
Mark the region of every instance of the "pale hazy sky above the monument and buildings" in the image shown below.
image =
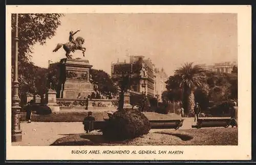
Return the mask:
<svg viewBox="0 0 256 165"><path fill-rule="evenodd" d="M31 60L48 67L48 60L66 58L58 43L85 39L86 56L77 50L74 58L88 59L95 69L111 74L111 62L129 61L129 56L151 58L168 76L186 62L212 64L238 60L237 14L229 13L84 13L65 14L56 34L45 45L35 44Z"/></svg>

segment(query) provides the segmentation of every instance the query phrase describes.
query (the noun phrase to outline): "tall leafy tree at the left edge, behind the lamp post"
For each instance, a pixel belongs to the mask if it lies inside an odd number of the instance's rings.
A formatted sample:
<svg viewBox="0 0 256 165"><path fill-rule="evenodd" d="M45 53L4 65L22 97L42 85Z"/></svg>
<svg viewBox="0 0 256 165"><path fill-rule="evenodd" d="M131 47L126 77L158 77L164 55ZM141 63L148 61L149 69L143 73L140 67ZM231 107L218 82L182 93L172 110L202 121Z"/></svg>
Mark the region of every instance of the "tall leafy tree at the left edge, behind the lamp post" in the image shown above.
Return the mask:
<svg viewBox="0 0 256 165"><path fill-rule="evenodd" d="M34 75L31 62L31 54L33 53L33 45L39 43L45 44L47 39L55 35L55 31L60 25L60 17L62 14L18 14L18 74L19 74L19 94L24 92L32 92L35 86L32 80ZM15 36L15 15L12 14L11 35ZM14 58L15 58L15 42L12 40L12 80L14 78ZM13 90L13 88L12 88ZM32 91L31 91L32 90ZM13 93L13 91L12 91Z"/></svg>

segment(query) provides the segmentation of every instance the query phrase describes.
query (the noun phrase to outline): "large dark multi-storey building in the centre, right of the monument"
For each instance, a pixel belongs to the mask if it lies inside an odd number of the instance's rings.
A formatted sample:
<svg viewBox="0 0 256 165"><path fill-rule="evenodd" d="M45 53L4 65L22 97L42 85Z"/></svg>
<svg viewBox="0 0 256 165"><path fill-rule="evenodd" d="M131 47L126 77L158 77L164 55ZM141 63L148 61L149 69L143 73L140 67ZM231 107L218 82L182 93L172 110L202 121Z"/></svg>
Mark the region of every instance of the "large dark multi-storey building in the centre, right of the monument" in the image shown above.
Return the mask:
<svg viewBox="0 0 256 165"><path fill-rule="evenodd" d="M112 63L112 78L121 77L122 74L130 73L132 82L131 90L137 93L145 93L150 97L155 96L155 66L151 59L144 56L130 56L130 62L117 61ZM119 83L119 82L115 82Z"/></svg>

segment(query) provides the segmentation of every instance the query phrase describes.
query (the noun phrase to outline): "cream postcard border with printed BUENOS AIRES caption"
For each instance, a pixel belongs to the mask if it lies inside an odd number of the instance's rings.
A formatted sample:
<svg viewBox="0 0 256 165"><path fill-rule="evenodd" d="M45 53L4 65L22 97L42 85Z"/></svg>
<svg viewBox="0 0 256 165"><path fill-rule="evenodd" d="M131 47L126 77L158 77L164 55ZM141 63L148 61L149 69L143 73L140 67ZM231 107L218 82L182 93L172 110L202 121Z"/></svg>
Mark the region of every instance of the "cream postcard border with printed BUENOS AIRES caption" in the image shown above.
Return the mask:
<svg viewBox="0 0 256 165"><path fill-rule="evenodd" d="M238 146L11 146L11 13L237 13ZM251 159L251 6L6 6L7 160L249 160ZM242 113L241 113L242 112ZM182 150L180 155L75 155L71 150ZM42 154L44 153L44 154Z"/></svg>

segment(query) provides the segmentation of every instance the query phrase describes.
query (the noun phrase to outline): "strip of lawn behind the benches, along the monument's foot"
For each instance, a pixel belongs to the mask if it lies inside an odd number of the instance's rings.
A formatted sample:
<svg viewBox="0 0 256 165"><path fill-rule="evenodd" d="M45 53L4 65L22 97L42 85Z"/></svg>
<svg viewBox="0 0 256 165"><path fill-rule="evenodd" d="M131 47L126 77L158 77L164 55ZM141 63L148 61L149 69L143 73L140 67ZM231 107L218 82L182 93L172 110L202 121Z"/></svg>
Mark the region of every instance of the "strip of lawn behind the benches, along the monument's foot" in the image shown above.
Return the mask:
<svg viewBox="0 0 256 165"><path fill-rule="evenodd" d="M88 112L54 112L47 115L32 114L32 122L82 122ZM148 120L170 120L181 119L177 114L159 114L155 112L144 113ZM108 118L106 111L93 112L96 121L103 121L103 117ZM20 113L20 121L26 122L26 113Z"/></svg>

